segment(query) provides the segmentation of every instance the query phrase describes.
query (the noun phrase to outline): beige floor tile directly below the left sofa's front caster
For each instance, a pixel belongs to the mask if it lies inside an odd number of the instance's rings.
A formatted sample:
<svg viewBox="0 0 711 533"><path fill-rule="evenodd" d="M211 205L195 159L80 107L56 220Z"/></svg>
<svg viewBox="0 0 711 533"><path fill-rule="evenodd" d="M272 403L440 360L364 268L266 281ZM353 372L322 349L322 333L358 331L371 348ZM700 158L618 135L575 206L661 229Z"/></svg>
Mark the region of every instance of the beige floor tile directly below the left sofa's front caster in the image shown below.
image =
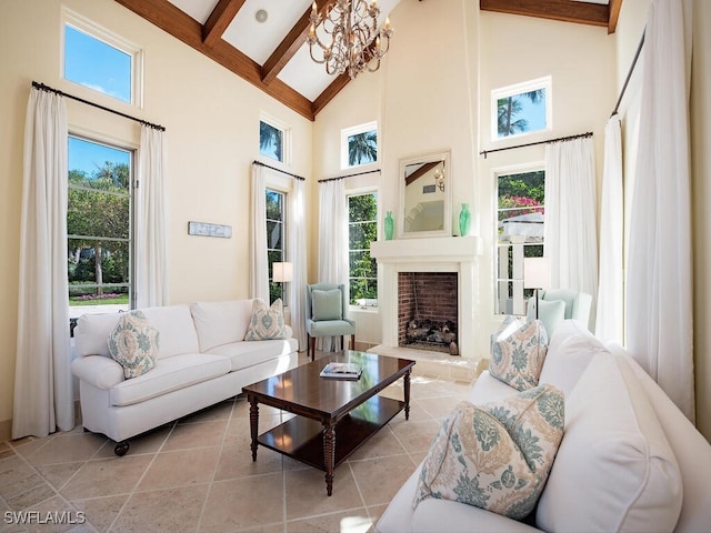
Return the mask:
<svg viewBox="0 0 711 533"><path fill-rule="evenodd" d="M60 493L72 501L131 492L152 459L152 455L124 455L89 461Z"/></svg>

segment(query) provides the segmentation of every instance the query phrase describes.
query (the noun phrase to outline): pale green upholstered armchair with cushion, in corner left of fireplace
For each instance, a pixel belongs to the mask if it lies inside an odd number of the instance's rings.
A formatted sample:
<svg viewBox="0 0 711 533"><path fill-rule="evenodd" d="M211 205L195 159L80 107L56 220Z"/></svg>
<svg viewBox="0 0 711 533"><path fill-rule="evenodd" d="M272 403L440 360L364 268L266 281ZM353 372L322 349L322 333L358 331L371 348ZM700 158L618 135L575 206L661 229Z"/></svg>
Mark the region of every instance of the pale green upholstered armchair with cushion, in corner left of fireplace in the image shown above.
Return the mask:
<svg viewBox="0 0 711 533"><path fill-rule="evenodd" d="M351 350L356 348L356 322L346 318L347 305L346 285L332 283L307 285L306 322L311 361L316 359L318 336L351 335L350 348Z"/></svg>

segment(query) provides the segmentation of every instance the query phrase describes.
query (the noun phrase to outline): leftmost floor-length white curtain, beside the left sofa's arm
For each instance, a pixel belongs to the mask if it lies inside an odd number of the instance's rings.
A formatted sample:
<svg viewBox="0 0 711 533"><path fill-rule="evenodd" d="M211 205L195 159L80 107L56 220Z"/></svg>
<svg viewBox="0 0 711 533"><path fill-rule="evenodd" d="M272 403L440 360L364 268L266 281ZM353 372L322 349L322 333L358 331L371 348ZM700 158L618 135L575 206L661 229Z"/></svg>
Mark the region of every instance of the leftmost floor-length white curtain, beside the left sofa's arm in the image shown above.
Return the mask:
<svg viewBox="0 0 711 533"><path fill-rule="evenodd" d="M74 426L67 282L67 108L32 89L24 123L12 438Z"/></svg>

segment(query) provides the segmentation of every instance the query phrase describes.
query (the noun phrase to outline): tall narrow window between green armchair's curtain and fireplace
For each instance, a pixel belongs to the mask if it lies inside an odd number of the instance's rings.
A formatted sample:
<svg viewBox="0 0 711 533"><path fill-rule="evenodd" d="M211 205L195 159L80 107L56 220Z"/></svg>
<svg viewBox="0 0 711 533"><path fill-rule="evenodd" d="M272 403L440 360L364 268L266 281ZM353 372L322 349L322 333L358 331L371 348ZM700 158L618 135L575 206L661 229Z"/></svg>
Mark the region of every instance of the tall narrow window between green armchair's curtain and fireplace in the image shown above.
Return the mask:
<svg viewBox="0 0 711 533"><path fill-rule="evenodd" d="M378 194L348 197L348 255L351 305L378 305L378 265L370 243L378 237Z"/></svg>

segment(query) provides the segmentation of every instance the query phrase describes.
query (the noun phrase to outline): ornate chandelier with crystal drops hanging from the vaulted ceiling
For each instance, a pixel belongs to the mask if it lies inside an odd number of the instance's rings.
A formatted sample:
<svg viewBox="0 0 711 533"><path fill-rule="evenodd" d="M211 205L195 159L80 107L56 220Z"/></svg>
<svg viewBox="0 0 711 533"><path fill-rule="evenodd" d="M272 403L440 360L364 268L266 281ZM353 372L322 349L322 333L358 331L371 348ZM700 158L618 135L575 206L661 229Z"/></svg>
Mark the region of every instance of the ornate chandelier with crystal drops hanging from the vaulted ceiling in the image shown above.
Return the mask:
<svg viewBox="0 0 711 533"><path fill-rule="evenodd" d="M343 74L356 78L363 70L374 72L380 68L380 60L390 48L390 19L385 19L383 28L378 31L380 8L377 0L336 0L321 17L316 0L311 6L311 28L307 37L309 53L317 63L326 63L329 74ZM324 44L317 34L330 38ZM314 56L314 50L320 57Z"/></svg>

